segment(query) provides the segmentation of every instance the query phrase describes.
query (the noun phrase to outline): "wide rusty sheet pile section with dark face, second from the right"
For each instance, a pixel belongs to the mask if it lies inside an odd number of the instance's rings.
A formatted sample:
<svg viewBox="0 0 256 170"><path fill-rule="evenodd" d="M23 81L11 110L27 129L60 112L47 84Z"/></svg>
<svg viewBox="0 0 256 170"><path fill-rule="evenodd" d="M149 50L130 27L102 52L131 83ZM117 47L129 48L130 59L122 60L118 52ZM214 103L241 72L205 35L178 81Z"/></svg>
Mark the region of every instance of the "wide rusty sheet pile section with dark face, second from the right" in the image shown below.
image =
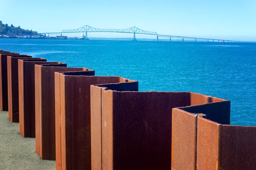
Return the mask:
<svg viewBox="0 0 256 170"><path fill-rule="evenodd" d="M118 85L115 86L91 87L92 169L170 170L172 108L198 105L200 101L205 103L210 101L208 96L189 92L120 92ZM194 101L198 99L200 101ZM186 127L189 130L196 124L196 117L191 117L191 125ZM99 124L99 120L102 120L102 129L99 126L93 133L93 126ZM196 143L194 134L189 134L193 138L190 146ZM99 141L100 137L101 142L93 142L93 139ZM98 147L94 148L93 144ZM196 149L193 149L192 162L195 163ZM98 161L98 164L93 166L93 161ZM100 161L102 167L97 166Z"/></svg>

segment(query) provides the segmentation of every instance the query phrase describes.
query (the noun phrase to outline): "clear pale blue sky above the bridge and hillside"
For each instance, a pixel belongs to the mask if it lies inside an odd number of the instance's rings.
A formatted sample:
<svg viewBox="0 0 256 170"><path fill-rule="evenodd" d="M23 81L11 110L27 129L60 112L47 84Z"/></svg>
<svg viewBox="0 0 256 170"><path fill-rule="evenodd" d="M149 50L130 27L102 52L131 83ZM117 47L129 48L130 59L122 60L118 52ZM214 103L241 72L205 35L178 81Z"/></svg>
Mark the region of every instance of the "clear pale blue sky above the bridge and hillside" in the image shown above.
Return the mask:
<svg viewBox="0 0 256 170"><path fill-rule="evenodd" d="M0 0L0 20L38 32L137 26L158 34L256 41L256 0Z"/></svg>

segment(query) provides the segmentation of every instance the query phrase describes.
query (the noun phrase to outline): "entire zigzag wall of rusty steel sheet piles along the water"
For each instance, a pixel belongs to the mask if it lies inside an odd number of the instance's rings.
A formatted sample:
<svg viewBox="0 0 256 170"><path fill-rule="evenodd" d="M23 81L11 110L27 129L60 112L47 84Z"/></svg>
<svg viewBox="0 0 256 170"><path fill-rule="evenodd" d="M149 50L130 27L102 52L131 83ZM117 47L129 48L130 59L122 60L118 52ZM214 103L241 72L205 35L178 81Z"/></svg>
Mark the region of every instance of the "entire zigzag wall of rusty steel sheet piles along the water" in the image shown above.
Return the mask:
<svg viewBox="0 0 256 170"><path fill-rule="evenodd" d="M0 67L0 109L57 170L255 170L256 127L230 125L229 100L3 50Z"/></svg>

